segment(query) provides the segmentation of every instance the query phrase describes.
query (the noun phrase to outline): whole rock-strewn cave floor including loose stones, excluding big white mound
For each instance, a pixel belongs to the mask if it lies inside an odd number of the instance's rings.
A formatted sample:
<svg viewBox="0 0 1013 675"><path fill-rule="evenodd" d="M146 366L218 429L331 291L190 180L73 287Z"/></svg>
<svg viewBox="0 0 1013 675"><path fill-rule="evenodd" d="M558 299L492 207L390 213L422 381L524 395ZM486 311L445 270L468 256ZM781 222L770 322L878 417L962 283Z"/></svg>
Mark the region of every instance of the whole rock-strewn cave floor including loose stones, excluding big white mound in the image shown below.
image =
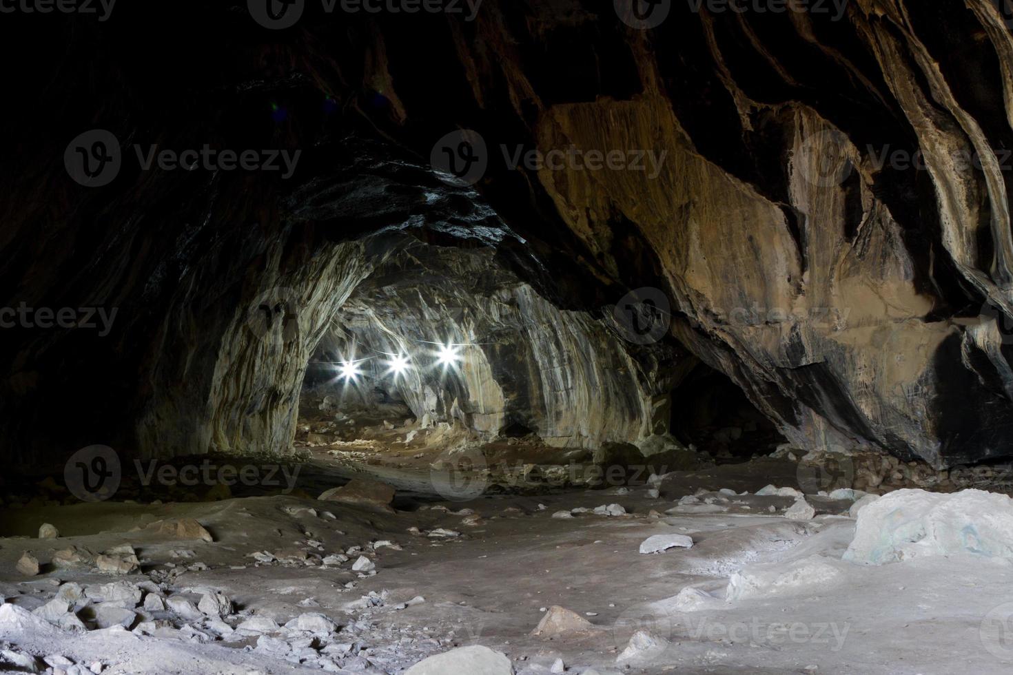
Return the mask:
<svg viewBox="0 0 1013 675"><path fill-rule="evenodd" d="M701 453L692 471L579 485L546 477L582 455L514 438L481 446L485 469L445 485L446 425L321 419L300 429L292 490L125 483L80 503L54 480L12 489L0 668L399 673L472 645L524 675L998 673L1013 658L987 619L1013 614L1009 560L842 561L861 494L799 501L811 457ZM852 483L1004 487L994 469L954 485L880 459L847 468ZM397 493L316 499L349 478ZM36 538L43 523L58 536ZM641 554L659 534L692 547Z"/></svg>

